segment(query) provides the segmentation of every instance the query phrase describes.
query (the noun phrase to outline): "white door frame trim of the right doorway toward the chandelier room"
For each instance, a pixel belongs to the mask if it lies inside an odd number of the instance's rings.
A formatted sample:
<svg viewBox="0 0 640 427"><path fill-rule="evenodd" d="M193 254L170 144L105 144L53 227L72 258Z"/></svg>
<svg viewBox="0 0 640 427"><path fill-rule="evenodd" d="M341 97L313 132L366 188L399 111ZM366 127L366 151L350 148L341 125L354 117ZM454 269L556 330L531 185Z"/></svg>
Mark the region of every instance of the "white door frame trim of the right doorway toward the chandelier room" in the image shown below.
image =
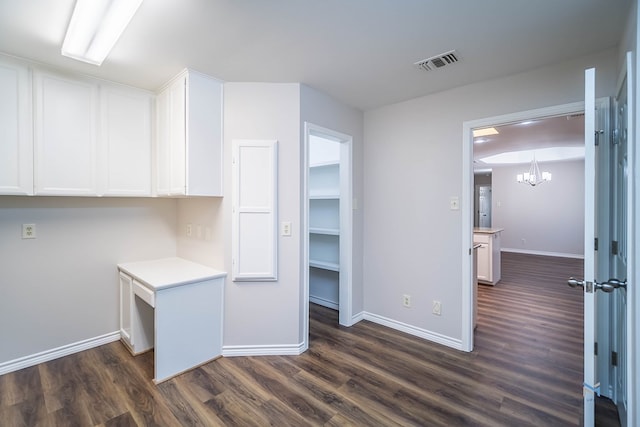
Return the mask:
<svg viewBox="0 0 640 427"><path fill-rule="evenodd" d="M520 111L462 123L462 343L464 351L473 350L473 129L501 126L524 120L541 119L584 112L584 102Z"/></svg>

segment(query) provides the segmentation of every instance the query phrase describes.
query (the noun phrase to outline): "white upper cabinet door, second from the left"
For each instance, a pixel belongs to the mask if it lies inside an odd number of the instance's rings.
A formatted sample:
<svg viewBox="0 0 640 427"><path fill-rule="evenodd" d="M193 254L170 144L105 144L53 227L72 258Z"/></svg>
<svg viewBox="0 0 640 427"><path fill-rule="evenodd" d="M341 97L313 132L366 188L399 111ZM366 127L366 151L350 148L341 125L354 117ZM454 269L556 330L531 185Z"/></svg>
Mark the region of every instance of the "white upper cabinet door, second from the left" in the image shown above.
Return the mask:
<svg viewBox="0 0 640 427"><path fill-rule="evenodd" d="M35 193L96 195L98 85L35 72Z"/></svg>

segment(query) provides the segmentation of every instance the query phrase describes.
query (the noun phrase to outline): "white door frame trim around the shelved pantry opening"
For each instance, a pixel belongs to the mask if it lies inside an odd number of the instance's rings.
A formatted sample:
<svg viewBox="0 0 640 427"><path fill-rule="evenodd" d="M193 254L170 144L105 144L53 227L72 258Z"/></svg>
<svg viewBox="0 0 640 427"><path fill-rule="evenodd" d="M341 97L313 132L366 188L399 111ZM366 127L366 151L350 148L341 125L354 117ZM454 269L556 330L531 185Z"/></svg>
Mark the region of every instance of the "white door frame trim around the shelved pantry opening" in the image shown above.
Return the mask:
<svg viewBox="0 0 640 427"><path fill-rule="evenodd" d="M339 323L351 326L353 320L353 137L310 122L304 122L302 173L302 306L303 351L309 348L309 136L318 135L340 142L340 278Z"/></svg>

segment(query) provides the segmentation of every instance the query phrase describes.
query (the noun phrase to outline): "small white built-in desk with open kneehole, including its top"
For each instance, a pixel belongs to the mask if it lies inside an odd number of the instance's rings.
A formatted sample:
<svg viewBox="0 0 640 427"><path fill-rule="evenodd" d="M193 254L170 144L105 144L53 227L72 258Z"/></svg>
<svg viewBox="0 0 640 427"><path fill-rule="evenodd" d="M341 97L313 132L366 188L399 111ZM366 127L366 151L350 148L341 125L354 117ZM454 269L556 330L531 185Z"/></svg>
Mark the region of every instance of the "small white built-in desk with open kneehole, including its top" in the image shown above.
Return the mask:
<svg viewBox="0 0 640 427"><path fill-rule="evenodd" d="M222 355L226 273L180 258L119 264L120 334L159 383Z"/></svg>

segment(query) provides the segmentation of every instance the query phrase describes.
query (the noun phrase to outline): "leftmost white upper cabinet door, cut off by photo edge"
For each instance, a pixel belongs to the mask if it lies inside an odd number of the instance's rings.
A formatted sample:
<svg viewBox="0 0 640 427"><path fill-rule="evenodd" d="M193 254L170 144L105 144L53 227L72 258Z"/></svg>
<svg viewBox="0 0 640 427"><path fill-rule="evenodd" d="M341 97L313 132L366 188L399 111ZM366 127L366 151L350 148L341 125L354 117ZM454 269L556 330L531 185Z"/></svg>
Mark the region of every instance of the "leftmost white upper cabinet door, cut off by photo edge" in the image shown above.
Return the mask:
<svg viewBox="0 0 640 427"><path fill-rule="evenodd" d="M33 194L29 70L0 60L0 194Z"/></svg>

